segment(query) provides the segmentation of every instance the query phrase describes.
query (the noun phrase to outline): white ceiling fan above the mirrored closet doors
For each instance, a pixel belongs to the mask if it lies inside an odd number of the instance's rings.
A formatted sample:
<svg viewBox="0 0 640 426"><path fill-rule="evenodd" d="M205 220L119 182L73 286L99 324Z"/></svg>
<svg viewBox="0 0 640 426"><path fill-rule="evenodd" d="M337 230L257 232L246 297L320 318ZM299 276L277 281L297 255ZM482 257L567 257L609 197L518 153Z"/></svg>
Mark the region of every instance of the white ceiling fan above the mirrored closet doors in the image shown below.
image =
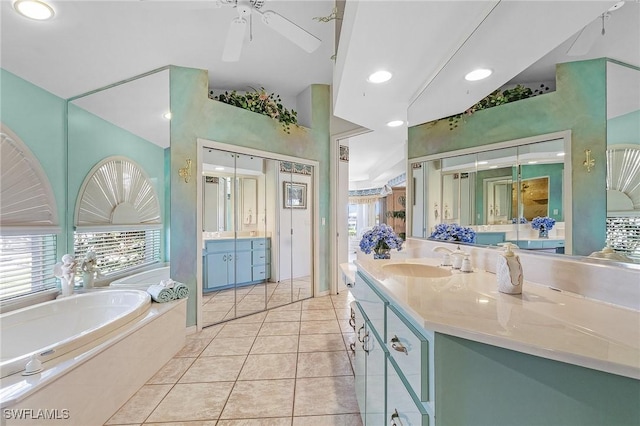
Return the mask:
<svg viewBox="0 0 640 426"><path fill-rule="evenodd" d="M242 53L242 42L253 14L260 16L262 22L269 28L282 34L306 52L316 50L322 41L305 29L294 24L287 18L272 10L261 11L265 0L218 0L220 5L232 5L238 11L238 17L231 21L229 32L222 52L224 62L236 62Z"/></svg>

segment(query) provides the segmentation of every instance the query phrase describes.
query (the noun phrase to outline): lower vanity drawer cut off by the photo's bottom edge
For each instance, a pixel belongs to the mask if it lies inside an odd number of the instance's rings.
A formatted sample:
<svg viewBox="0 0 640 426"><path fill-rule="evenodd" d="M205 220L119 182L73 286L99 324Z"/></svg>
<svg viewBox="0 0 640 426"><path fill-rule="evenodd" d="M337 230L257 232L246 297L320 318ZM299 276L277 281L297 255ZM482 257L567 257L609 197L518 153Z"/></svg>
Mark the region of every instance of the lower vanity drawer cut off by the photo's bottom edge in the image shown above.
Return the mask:
<svg viewBox="0 0 640 426"><path fill-rule="evenodd" d="M429 412L417 400L393 358L387 359L387 423L396 426L429 426Z"/></svg>

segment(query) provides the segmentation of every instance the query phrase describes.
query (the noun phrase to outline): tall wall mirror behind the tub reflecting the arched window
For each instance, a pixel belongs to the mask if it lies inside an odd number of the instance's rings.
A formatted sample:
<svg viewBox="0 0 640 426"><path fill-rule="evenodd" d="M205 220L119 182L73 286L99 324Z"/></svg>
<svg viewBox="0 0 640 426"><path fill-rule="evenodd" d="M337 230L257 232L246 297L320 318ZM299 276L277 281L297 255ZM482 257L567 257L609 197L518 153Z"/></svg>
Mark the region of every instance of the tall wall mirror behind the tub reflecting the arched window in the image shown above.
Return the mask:
<svg viewBox="0 0 640 426"><path fill-rule="evenodd" d="M73 247L79 257L96 253L103 281L98 284L163 265L169 69L74 97L67 108L69 251ZM149 203L153 217L147 217Z"/></svg>

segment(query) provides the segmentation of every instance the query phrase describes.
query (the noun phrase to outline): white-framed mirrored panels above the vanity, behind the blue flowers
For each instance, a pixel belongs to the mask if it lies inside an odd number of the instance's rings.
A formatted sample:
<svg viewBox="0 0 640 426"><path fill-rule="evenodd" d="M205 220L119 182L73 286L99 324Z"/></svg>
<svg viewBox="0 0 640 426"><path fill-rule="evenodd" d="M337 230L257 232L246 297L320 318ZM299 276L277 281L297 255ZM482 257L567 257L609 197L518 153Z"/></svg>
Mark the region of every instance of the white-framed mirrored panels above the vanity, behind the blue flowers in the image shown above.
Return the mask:
<svg viewBox="0 0 640 426"><path fill-rule="evenodd" d="M511 145L511 146L509 146ZM412 236L426 238L439 223L476 231L476 243L513 242L524 249L570 253L565 205L568 132L448 153L411 163ZM556 221L548 237L531 227L536 217Z"/></svg>

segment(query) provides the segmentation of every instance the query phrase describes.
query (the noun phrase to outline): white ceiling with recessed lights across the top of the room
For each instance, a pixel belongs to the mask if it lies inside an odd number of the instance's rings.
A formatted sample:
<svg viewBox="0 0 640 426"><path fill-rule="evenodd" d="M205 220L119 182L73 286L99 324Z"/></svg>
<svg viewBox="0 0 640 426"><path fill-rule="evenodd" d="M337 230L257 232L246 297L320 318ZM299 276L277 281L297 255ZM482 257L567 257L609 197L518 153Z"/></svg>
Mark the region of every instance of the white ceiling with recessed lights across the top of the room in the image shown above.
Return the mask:
<svg viewBox="0 0 640 426"><path fill-rule="evenodd" d="M215 0L50 2L55 19L35 22L0 0L4 69L62 98L170 64L208 70L211 89L264 86L293 108L309 84L333 84L335 115L375 130L350 141L357 187L404 171L407 127L388 129L392 119L414 125L464 111L504 83L553 80L558 62L608 56L640 66L637 1L612 12L587 55L567 57L577 32L615 1L348 0L335 67L335 21L313 19L329 15L333 0L266 0L262 11L322 45L308 54L254 19L236 63L220 58L237 13ZM494 75L467 85L461 77L477 65ZM366 76L379 67L394 78L374 87Z"/></svg>

